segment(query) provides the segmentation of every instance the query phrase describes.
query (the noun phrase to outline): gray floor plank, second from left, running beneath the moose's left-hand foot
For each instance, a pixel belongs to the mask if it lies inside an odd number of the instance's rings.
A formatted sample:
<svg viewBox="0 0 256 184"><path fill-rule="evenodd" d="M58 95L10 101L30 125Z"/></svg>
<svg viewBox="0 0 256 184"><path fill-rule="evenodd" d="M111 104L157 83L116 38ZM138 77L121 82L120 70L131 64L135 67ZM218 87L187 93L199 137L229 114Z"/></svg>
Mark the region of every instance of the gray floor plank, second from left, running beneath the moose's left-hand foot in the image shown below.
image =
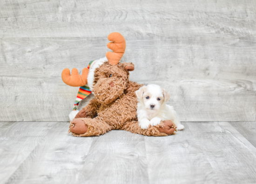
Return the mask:
<svg viewBox="0 0 256 184"><path fill-rule="evenodd" d="M68 122L55 122L6 184L74 183L94 138L77 138L67 130Z"/></svg>

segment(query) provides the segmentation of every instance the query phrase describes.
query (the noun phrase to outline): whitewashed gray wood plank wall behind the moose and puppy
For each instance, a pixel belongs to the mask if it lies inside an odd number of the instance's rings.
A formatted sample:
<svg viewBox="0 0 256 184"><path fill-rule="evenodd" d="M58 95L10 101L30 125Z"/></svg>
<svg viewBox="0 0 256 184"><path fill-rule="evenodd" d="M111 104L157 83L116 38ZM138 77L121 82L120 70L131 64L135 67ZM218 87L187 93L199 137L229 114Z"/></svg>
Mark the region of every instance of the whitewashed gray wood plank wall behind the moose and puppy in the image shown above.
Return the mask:
<svg viewBox="0 0 256 184"><path fill-rule="evenodd" d="M255 121L255 0L0 0L0 121L68 121L79 88L61 71L104 57L111 32L182 121Z"/></svg>

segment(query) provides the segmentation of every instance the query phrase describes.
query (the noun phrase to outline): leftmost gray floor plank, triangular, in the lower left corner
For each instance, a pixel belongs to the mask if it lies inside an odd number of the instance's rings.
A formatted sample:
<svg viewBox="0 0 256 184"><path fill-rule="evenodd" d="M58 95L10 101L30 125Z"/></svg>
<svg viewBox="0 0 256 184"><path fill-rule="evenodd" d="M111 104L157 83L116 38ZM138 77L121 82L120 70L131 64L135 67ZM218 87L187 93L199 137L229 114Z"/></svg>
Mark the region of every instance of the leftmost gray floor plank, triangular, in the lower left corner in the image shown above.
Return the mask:
<svg viewBox="0 0 256 184"><path fill-rule="evenodd" d="M5 183L19 168L53 125L53 122L0 122L0 183Z"/></svg>

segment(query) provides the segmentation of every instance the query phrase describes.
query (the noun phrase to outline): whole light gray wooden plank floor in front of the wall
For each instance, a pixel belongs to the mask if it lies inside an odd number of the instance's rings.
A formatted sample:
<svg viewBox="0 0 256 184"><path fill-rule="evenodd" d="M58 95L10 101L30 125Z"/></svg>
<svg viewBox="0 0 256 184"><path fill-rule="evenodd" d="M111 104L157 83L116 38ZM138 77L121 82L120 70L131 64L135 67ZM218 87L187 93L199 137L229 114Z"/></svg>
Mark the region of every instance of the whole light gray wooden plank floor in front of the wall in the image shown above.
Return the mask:
<svg viewBox="0 0 256 184"><path fill-rule="evenodd" d="M183 122L168 137L73 137L68 122L0 122L1 184L256 183L256 122Z"/></svg>

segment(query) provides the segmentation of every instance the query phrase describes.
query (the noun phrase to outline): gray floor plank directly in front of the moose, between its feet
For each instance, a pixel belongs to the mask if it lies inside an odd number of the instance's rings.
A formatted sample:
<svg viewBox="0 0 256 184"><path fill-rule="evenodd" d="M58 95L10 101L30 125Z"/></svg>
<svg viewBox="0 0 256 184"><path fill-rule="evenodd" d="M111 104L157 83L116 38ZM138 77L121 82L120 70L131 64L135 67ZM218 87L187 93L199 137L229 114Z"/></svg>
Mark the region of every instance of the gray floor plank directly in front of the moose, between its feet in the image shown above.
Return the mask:
<svg viewBox="0 0 256 184"><path fill-rule="evenodd" d="M77 184L147 184L144 136L111 131L95 137Z"/></svg>

